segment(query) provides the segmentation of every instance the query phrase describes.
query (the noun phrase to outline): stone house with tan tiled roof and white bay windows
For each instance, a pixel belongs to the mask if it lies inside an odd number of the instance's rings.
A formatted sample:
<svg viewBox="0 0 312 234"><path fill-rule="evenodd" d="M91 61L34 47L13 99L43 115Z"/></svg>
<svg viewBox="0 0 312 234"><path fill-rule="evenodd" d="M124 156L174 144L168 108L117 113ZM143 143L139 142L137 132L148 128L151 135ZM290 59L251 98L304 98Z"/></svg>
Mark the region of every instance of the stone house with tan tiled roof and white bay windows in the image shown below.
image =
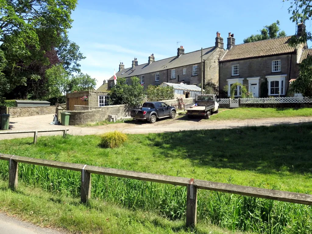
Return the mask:
<svg viewBox="0 0 312 234"><path fill-rule="evenodd" d="M305 30L298 24L297 37ZM238 82L246 85L254 97L286 96L289 81L296 79L299 64L310 50L307 44L291 47L288 42L292 36L279 37L235 45L234 34L227 37L227 50L219 61L219 89L227 90L221 97L230 96L231 85ZM240 86L235 96L240 96Z"/></svg>

